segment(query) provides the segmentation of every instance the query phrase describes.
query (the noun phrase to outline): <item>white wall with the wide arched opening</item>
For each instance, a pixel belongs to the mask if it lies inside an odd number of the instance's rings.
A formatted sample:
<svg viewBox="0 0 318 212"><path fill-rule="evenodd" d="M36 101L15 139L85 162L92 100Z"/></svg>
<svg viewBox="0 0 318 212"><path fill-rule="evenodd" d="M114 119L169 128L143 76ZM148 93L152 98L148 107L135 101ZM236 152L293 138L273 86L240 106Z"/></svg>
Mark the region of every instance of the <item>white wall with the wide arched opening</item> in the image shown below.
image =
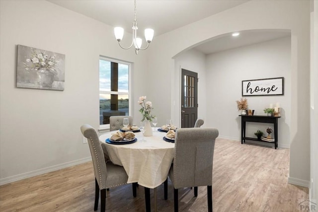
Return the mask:
<svg viewBox="0 0 318 212"><path fill-rule="evenodd" d="M291 93L290 110L290 177L289 182L309 186L310 179L310 1L303 0L251 0L237 7L199 20L195 23L156 37L149 50L153 76L150 84L157 84L157 102L164 102L159 116L173 116L173 101L179 90L173 90L176 79L174 56L213 37L239 30L287 29L291 30ZM163 76L171 76L170 86ZM162 81L161 81L162 80ZM157 82L161 83L157 83ZM233 108L236 110L236 108ZM175 120L174 120L175 121Z"/></svg>

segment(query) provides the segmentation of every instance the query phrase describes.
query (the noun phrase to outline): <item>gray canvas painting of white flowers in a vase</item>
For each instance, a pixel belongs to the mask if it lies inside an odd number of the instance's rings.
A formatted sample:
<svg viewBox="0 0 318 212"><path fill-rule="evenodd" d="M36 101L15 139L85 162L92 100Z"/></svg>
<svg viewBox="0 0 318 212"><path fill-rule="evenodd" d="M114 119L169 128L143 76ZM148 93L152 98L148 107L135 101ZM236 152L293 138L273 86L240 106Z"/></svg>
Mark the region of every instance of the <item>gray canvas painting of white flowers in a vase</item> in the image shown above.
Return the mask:
<svg viewBox="0 0 318 212"><path fill-rule="evenodd" d="M65 55L18 45L16 87L64 90Z"/></svg>

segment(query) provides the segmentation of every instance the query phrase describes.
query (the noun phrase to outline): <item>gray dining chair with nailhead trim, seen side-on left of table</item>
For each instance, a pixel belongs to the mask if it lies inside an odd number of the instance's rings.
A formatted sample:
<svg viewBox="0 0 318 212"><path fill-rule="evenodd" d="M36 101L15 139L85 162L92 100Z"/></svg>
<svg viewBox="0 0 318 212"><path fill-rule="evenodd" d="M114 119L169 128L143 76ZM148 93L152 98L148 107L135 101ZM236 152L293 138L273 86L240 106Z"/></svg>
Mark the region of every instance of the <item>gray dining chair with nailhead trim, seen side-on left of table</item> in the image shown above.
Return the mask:
<svg viewBox="0 0 318 212"><path fill-rule="evenodd" d="M94 128L90 125L82 125L80 131L87 138L93 161L95 176L94 211L97 211L98 208L100 191L100 211L104 212L106 209L106 189L126 184L128 175L124 167L115 165L110 161L106 163L103 149ZM133 183L133 196L136 197L136 183Z"/></svg>

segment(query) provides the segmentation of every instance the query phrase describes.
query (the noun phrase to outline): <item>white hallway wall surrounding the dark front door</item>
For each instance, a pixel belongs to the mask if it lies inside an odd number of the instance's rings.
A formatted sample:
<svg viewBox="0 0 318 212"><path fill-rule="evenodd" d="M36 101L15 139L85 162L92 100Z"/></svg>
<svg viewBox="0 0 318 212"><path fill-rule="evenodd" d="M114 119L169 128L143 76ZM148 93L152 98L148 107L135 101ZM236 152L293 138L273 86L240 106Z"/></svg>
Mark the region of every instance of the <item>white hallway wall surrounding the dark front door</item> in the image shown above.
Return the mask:
<svg viewBox="0 0 318 212"><path fill-rule="evenodd" d="M188 71L193 71L198 73L198 118L206 120L206 56L202 52L198 52L195 49L186 51L178 55L174 59L174 83L173 90L180 90L181 86L181 69ZM181 108L181 99L179 93L172 93L172 99L175 102L172 102L173 107L173 120L175 120L176 126L181 126L180 114ZM205 125L204 125L205 126Z"/></svg>

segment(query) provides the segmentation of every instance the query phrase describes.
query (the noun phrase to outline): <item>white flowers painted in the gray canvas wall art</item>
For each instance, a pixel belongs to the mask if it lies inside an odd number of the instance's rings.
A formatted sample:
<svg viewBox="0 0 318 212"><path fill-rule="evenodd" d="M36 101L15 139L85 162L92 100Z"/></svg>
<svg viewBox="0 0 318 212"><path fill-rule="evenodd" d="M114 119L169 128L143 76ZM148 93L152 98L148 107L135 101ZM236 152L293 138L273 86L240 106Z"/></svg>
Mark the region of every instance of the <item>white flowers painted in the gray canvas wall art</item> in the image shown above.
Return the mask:
<svg viewBox="0 0 318 212"><path fill-rule="evenodd" d="M30 58L25 59L24 68L26 71L40 71L45 73L51 73L56 75L57 69L56 69L56 56L48 56L46 52L35 52L34 49L32 49L33 52L31 54Z"/></svg>

